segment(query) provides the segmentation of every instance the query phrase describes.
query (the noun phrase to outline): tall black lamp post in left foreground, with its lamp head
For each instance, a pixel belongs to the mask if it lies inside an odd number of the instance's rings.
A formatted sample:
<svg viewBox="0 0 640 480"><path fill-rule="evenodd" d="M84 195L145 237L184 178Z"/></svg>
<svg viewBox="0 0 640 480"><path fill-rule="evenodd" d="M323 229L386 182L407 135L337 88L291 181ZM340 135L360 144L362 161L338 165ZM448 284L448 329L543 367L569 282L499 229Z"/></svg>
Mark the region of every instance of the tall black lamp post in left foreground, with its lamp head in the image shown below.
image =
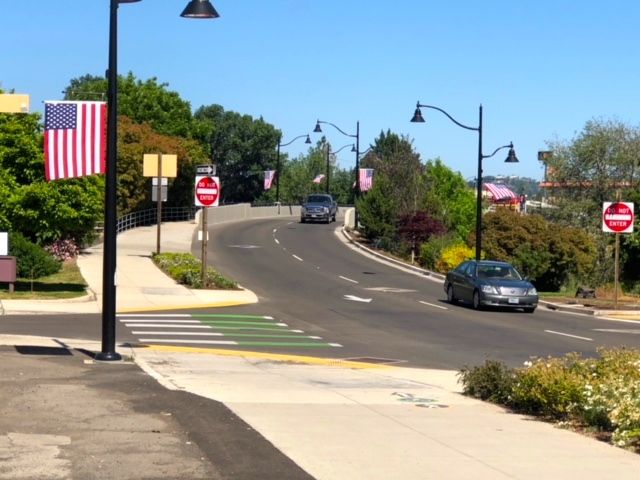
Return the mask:
<svg viewBox="0 0 640 480"><path fill-rule="evenodd" d="M116 229L118 164L118 5L140 0L110 0L109 69L107 70L107 172L104 199L102 258L102 348L96 360L120 360L116 352ZM180 14L185 18L216 18L209 0L191 0Z"/></svg>

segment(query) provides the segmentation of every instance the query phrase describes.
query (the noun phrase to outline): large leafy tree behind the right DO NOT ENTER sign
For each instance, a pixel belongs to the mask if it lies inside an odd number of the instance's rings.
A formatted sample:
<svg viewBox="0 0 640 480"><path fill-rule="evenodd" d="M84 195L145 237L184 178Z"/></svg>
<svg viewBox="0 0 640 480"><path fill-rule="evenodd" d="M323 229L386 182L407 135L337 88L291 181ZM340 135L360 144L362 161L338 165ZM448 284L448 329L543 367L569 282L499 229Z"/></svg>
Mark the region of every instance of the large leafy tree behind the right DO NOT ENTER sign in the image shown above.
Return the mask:
<svg viewBox="0 0 640 480"><path fill-rule="evenodd" d="M638 202L640 186L640 128L617 120L591 120L569 141L553 141L552 155L543 160L545 195L556 208L545 216L563 225L588 232L597 244L592 281L613 280L611 248L614 235L601 229L605 201ZM621 242L622 275L628 285L640 280L638 249L640 232L624 235Z"/></svg>

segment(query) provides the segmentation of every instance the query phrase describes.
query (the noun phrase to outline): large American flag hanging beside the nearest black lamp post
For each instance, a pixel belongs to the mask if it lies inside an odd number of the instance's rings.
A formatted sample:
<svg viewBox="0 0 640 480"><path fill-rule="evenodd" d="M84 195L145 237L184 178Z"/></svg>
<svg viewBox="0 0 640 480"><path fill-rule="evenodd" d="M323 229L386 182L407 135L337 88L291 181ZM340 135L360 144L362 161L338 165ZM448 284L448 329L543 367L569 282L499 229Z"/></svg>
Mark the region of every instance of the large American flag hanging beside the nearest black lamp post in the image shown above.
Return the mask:
<svg viewBox="0 0 640 480"><path fill-rule="evenodd" d="M44 164L48 181L105 172L105 102L45 102Z"/></svg>

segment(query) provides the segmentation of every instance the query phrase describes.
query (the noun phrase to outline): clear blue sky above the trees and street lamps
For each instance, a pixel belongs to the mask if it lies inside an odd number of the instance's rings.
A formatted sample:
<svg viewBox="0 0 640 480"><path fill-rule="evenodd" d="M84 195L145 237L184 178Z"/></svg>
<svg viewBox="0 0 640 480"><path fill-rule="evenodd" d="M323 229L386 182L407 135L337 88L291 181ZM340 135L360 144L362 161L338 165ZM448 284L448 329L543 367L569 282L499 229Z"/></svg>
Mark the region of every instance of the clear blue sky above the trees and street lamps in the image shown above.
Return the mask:
<svg viewBox="0 0 640 480"><path fill-rule="evenodd" d="M485 175L542 179L538 150L569 141L592 119L638 124L637 0L212 0L215 20L187 20L187 0L119 8L120 74L157 77L192 108L220 104L262 116L283 142L316 119L355 134L407 135L423 161L440 157L465 178L477 170L476 132L416 101L478 125ZM31 95L31 111L62 97L70 79L103 75L108 0L0 0L0 88ZM351 143L326 126L338 149ZM317 140L313 135L312 140ZM275 148L275 147L274 147ZM303 139L283 151L306 152ZM343 168L354 154L339 154Z"/></svg>

